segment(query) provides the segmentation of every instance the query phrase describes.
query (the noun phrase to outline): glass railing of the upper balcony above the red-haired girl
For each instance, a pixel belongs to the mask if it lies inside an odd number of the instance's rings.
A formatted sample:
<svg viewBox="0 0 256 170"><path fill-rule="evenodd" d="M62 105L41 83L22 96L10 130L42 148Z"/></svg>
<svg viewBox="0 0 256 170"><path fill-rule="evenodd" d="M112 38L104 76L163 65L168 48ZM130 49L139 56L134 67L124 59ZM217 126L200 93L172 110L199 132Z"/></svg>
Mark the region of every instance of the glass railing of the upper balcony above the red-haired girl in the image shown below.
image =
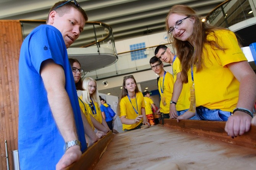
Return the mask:
<svg viewBox="0 0 256 170"><path fill-rule="evenodd" d="M212 25L228 28L256 15L253 2L253 0L227 0L209 13L206 20Z"/></svg>

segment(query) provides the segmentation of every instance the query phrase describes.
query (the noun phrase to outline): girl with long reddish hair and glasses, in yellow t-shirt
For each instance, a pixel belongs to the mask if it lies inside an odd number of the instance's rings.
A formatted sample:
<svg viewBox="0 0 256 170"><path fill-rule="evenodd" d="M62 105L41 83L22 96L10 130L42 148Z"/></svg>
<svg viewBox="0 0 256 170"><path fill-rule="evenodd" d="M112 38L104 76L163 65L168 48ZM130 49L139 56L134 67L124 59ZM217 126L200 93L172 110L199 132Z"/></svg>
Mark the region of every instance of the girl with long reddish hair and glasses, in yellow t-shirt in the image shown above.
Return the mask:
<svg viewBox="0 0 256 170"><path fill-rule="evenodd" d="M181 81L191 89L190 111L201 120L227 121L225 131L232 137L250 130L256 75L236 35L202 22L185 5L173 6L165 21L180 59ZM189 119L193 112L177 119Z"/></svg>

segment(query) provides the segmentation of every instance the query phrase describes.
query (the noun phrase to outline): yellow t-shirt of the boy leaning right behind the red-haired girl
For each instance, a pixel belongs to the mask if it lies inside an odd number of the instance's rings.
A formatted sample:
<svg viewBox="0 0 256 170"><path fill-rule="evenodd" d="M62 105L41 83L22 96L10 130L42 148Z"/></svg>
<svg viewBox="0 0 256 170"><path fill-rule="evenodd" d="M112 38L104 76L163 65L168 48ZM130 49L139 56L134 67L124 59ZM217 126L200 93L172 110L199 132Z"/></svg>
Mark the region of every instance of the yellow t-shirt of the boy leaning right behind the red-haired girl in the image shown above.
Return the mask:
<svg viewBox="0 0 256 170"><path fill-rule="evenodd" d="M177 80L177 74L181 72L180 59L176 57L175 61L172 64L173 69L173 80L174 82ZM190 107L190 89L188 87L188 83L183 83L183 88L178 98L176 109L177 111L183 111L185 109L189 109Z"/></svg>

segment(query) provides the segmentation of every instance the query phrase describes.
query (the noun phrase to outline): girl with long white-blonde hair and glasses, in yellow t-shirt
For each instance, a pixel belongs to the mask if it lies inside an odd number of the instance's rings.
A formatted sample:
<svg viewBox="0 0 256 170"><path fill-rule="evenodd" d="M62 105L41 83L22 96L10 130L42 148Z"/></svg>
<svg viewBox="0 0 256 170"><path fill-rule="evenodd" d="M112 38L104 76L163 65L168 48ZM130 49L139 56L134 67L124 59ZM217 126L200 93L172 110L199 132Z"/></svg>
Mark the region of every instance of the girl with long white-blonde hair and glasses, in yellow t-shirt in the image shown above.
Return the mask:
<svg viewBox="0 0 256 170"><path fill-rule="evenodd" d="M107 129L107 131L104 131L105 133L109 132L110 129L107 125L107 122L103 118L100 111L100 99L96 81L91 77L86 77L83 81L83 88L84 91L82 99L88 107L89 114L91 115L91 117L95 118L101 125L103 125L105 129ZM100 130L97 127L96 129Z"/></svg>

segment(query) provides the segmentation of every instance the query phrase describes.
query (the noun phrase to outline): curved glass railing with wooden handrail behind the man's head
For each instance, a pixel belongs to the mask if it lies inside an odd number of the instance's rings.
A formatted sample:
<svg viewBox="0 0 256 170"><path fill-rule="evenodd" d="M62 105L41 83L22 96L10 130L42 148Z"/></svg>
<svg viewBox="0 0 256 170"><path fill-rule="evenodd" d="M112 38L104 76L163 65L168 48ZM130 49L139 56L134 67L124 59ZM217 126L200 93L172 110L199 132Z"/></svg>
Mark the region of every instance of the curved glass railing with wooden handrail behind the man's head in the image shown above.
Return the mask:
<svg viewBox="0 0 256 170"><path fill-rule="evenodd" d="M23 38L37 26L45 24L45 20L20 20ZM115 51L115 42L112 28L103 22L86 22L84 31L79 38L70 46L72 47L104 47Z"/></svg>

